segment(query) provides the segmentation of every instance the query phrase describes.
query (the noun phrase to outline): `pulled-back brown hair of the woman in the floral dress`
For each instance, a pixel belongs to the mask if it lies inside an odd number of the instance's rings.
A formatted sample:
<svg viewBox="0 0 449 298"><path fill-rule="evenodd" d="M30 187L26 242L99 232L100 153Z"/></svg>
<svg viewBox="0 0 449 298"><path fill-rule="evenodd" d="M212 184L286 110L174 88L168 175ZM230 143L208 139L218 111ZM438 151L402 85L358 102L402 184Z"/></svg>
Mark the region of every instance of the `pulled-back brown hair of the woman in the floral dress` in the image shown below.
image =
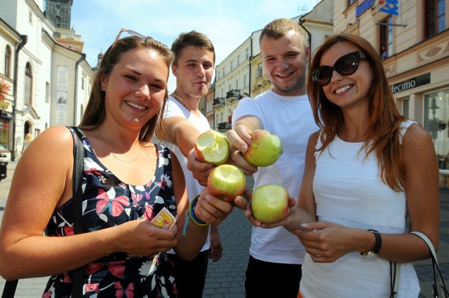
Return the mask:
<svg viewBox="0 0 449 298"><path fill-rule="evenodd" d="M170 68L170 63L173 60L173 53L170 48L163 43L160 43L151 37L141 38L138 36L130 36L119 39L107 49L105 55L102 57L100 66L98 67L93 79L91 96L89 97L86 111L83 115L83 120L81 120L79 125L80 127L97 127L105 120L105 92L100 89L100 78L103 74L107 75L112 71L114 65L119 62L121 55L124 52L128 52L128 50L133 50L135 48L156 50L166 63L167 69ZM143 125L142 129L140 129L139 141L147 143L152 139L158 120L159 122L162 122L163 111L166 106L167 99L168 90L166 87L166 94L163 99L163 104L158 113L148 120L148 122ZM158 130L159 129L161 128L159 127Z"/></svg>

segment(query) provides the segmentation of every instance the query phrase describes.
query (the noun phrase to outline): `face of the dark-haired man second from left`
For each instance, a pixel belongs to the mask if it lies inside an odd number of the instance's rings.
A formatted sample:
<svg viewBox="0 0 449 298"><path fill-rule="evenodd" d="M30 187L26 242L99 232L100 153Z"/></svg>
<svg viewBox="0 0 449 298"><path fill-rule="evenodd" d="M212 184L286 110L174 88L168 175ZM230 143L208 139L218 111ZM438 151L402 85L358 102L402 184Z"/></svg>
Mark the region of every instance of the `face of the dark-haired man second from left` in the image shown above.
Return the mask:
<svg viewBox="0 0 449 298"><path fill-rule="evenodd" d="M177 92L185 97L206 95L213 77L213 61L213 52L194 45L183 48L177 65L172 66Z"/></svg>

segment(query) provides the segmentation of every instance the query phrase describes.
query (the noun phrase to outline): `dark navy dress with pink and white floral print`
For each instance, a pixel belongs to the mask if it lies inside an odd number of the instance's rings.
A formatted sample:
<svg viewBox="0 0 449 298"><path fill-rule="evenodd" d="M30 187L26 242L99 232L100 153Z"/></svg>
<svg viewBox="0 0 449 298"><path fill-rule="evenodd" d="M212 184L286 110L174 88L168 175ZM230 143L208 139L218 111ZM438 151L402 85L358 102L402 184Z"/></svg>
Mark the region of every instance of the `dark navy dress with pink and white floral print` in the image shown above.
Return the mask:
<svg viewBox="0 0 449 298"><path fill-rule="evenodd" d="M154 177L146 185L129 185L114 176L96 157L81 129L69 127L81 137L83 160L83 232L93 232L146 218L166 207L176 215L168 148L157 146ZM48 222L48 236L74 234L73 199L55 210ZM68 256L69 257L69 256ZM70 297L73 271L49 279L43 297ZM176 297L173 264L166 253L140 257L114 253L84 267L84 297Z"/></svg>

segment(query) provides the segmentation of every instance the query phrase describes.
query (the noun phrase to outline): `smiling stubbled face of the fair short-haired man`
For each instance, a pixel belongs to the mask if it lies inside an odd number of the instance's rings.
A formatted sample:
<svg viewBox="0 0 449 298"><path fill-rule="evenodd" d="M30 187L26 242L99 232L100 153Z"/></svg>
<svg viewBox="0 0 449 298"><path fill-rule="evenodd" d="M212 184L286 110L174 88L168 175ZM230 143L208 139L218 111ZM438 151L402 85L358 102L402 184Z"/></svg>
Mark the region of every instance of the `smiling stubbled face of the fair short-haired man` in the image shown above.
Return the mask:
<svg viewBox="0 0 449 298"><path fill-rule="evenodd" d="M281 38L263 36L260 53L265 74L274 85L273 91L283 96L306 93L305 80L309 48L304 37L297 31L288 31Z"/></svg>

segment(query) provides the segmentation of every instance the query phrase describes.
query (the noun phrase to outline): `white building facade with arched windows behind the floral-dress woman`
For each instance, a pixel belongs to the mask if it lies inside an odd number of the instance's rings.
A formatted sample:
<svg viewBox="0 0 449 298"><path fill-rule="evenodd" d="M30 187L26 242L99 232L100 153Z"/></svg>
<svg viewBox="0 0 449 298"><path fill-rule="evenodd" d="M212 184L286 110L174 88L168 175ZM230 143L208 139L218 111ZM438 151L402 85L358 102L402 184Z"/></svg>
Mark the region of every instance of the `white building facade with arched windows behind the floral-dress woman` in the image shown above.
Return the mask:
<svg viewBox="0 0 449 298"><path fill-rule="evenodd" d="M27 133L36 137L53 125L77 125L93 78L83 43L67 26L72 1L46 1L61 29L43 4L6 0L0 10L0 83L9 86L0 107L0 152L11 160L22 154Z"/></svg>

